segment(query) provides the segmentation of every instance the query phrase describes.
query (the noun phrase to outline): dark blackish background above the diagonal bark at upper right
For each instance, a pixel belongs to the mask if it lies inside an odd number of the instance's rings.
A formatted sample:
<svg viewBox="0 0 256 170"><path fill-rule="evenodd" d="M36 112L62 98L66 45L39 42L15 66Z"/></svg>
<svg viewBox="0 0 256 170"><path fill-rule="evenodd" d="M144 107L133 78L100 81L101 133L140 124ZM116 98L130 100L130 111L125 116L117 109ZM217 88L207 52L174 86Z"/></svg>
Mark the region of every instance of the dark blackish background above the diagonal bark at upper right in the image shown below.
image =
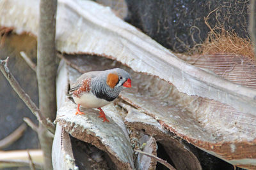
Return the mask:
<svg viewBox="0 0 256 170"><path fill-rule="evenodd" d="M211 27L235 31L246 38L248 34L250 1L153 1L126 0L129 9L125 20L141 29L173 52L188 52L202 43ZM215 10L215 11L214 11Z"/></svg>

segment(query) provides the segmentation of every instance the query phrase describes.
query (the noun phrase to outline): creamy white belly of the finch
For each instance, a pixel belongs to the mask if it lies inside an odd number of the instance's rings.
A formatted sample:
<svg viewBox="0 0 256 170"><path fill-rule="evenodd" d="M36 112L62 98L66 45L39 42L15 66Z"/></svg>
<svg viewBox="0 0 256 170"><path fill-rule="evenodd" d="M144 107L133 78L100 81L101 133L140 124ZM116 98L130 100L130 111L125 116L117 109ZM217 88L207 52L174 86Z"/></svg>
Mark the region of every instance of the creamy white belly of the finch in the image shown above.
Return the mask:
<svg viewBox="0 0 256 170"><path fill-rule="evenodd" d="M110 103L104 99L97 98L92 92L83 93L80 97L73 96L73 99L76 104L80 104L83 108L101 108Z"/></svg>

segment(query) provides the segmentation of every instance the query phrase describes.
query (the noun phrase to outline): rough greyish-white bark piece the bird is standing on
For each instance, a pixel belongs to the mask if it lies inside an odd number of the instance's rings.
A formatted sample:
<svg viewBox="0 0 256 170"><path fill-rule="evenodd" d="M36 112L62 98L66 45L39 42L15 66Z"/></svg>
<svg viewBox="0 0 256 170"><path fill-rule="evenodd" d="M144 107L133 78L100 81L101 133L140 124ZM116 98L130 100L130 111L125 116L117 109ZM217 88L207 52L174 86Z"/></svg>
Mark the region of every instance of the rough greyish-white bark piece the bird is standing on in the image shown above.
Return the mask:
<svg viewBox="0 0 256 170"><path fill-rule="evenodd" d="M118 169L133 168L131 144L127 139L127 132L122 131L122 127L115 121L115 117L118 117L116 113L113 113L114 117L108 118L111 123L102 123L98 117L98 111L81 109L86 115L76 116L74 114L76 104L67 101L64 105L58 110L56 122L63 126L65 131L74 138L92 143L100 150L107 152ZM114 108L113 106L108 106L106 110L105 108L103 110L109 117L109 111Z"/></svg>

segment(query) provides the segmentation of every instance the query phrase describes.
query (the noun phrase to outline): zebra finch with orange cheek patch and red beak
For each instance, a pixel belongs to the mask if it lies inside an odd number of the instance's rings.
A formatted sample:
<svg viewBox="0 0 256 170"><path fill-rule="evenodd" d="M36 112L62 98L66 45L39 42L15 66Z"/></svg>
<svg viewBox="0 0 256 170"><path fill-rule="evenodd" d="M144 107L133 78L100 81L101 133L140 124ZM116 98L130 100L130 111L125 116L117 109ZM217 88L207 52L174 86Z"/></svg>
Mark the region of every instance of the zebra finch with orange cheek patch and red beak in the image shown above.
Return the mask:
<svg viewBox="0 0 256 170"><path fill-rule="evenodd" d="M113 102L124 87L131 87L130 74L124 69L114 68L82 74L71 86L68 94L77 104L76 115L84 115L79 110L80 106L97 108L103 122L109 122L101 107Z"/></svg>

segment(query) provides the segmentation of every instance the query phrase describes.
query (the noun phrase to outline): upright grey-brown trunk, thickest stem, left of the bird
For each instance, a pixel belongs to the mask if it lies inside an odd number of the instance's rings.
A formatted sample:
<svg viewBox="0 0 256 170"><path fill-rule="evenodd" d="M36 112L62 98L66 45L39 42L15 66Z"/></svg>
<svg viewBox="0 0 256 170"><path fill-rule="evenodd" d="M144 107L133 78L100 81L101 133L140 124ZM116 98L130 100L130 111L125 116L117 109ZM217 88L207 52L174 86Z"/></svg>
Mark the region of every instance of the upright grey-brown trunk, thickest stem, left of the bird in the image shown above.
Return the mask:
<svg viewBox="0 0 256 170"><path fill-rule="evenodd" d="M56 10L57 0L40 0L40 16L37 36L37 66L39 109L51 122L56 118ZM38 138L44 152L44 169L52 168L52 142L47 131L38 125Z"/></svg>

